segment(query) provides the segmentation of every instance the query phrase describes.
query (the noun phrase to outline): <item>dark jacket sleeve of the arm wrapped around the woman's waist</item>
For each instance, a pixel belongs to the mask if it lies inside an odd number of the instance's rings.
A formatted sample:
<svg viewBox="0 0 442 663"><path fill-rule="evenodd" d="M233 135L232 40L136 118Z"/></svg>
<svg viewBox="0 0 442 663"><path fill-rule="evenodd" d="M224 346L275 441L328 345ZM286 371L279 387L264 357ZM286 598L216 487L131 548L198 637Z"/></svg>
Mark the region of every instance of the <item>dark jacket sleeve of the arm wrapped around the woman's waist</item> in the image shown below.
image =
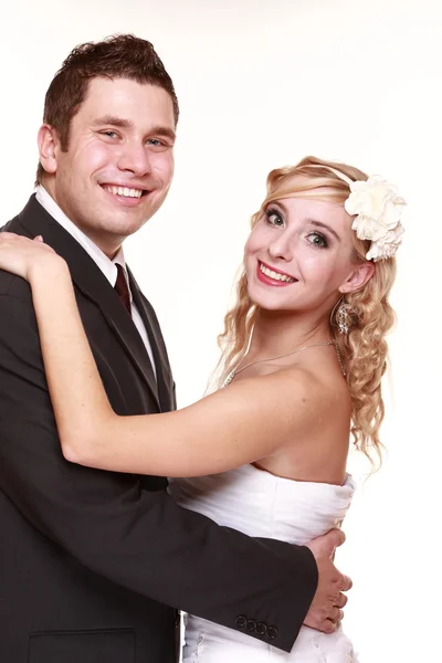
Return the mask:
<svg viewBox="0 0 442 663"><path fill-rule="evenodd" d="M308 548L250 538L133 475L66 462L25 287L0 288L1 490L96 573L290 651L316 591Z"/></svg>

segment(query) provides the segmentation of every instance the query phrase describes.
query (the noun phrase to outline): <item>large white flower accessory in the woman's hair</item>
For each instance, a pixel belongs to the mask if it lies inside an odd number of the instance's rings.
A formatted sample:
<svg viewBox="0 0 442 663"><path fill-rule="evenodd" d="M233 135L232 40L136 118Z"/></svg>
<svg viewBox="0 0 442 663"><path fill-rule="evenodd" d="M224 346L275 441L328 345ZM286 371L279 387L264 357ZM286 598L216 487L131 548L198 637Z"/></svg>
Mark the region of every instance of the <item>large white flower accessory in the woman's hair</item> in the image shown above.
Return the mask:
<svg viewBox="0 0 442 663"><path fill-rule="evenodd" d="M356 215L351 228L360 240L371 240L366 259L377 262L393 256L402 242L400 218L406 201L393 185L378 175L346 181L351 193L344 207L351 217Z"/></svg>

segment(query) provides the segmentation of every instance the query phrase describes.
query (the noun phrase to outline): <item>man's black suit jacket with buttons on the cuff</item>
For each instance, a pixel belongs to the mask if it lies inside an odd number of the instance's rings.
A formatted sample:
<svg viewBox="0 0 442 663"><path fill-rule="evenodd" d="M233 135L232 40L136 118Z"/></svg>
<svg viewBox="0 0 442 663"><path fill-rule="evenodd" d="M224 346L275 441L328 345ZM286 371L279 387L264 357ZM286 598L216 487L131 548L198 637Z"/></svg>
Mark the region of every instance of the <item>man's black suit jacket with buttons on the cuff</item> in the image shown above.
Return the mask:
<svg viewBox="0 0 442 663"><path fill-rule="evenodd" d="M114 410L172 409L161 332L133 277L158 382L108 281L34 197L3 230L42 234L67 261ZM2 663L172 663L175 608L291 650L316 589L309 550L220 527L166 486L63 459L30 287L0 271Z"/></svg>

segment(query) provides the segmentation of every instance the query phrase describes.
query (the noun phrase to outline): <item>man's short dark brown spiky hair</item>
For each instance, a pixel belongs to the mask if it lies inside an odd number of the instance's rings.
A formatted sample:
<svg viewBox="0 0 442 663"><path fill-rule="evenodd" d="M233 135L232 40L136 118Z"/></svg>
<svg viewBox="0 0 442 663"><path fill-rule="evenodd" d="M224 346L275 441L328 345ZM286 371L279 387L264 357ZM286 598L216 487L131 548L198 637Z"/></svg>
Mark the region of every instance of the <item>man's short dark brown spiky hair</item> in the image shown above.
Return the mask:
<svg viewBox="0 0 442 663"><path fill-rule="evenodd" d="M115 34L101 42L80 44L71 51L48 88L43 123L56 130L63 151L69 148L71 122L85 99L88 83L98 76L129 78L162 87L172 101L177 124L179 106L173 83L152 44L134 34ZM35 185L41 183L43 175L44 169L39 164Z"/></svg>

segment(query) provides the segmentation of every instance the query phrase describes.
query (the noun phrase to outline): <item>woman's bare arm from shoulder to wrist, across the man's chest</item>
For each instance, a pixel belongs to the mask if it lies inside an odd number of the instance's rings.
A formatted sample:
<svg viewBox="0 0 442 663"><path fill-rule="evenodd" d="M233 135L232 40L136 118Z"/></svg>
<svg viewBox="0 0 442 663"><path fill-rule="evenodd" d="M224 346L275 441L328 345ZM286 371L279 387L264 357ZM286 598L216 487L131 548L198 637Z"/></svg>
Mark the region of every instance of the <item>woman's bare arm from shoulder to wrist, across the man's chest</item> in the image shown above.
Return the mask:
<svg viewBox="0 0 442 663"><path fill-rule="evenodd" d="M213 474L270 455L311 430L317 408L327 409L318 383L291 369L232 383L177 412L119 417L102 385L66 263L50 253L31 260L23 276L32 287L63 454L74 463L158 476Z"/></svg>

